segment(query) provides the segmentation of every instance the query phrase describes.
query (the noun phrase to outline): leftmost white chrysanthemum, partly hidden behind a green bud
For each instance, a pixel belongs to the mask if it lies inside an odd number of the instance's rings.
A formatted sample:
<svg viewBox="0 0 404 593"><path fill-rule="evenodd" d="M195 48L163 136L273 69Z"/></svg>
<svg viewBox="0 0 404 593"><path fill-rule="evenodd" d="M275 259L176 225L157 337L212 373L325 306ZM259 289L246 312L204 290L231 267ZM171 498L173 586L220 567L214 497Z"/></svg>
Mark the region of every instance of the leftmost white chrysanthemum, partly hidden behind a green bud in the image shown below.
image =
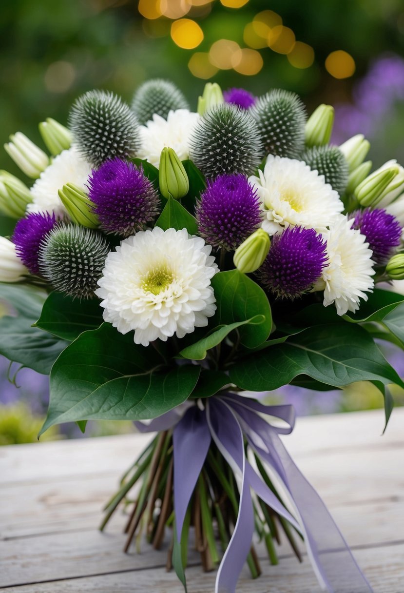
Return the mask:
<svg viewBox="0 0 404 593"><path fill-rule="evenodd" d="M76 148L72 146L60 152L31 188L33 202L28 204L28 212L54 212L56 216L66 215L65 206L57 191L66 183L74 183L85 191L90 173L91 165L79 155Z"/></svg>

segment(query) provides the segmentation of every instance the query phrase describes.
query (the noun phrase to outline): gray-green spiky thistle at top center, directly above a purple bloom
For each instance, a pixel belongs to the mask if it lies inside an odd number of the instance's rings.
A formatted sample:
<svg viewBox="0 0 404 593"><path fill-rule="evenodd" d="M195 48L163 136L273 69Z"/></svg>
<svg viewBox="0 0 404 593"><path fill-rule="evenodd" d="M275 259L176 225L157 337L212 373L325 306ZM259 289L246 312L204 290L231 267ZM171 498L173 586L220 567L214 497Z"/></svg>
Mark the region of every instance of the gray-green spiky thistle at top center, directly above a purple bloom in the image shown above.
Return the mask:
<svg viewBox="0 0 404 593"><path fill-rule="evenodd" d="M254 120L232 103L207 111L191 137L190 158L208 178L225 173L251 175L263 155Z"/></svg>

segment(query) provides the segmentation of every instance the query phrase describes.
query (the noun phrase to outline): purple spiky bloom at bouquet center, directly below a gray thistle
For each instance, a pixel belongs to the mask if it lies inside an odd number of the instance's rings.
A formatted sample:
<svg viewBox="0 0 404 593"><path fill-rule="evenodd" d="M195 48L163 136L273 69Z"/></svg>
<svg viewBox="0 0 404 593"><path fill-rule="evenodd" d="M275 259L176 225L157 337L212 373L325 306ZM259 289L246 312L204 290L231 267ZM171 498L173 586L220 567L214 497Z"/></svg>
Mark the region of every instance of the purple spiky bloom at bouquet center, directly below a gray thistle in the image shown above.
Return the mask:
<svg viewBox="0 0 404 593"><path fill-rule="evenodd" d="M195 215L206 242L228 251L235 250L261 222L256 190L241 173L208 180Z"/></svg>

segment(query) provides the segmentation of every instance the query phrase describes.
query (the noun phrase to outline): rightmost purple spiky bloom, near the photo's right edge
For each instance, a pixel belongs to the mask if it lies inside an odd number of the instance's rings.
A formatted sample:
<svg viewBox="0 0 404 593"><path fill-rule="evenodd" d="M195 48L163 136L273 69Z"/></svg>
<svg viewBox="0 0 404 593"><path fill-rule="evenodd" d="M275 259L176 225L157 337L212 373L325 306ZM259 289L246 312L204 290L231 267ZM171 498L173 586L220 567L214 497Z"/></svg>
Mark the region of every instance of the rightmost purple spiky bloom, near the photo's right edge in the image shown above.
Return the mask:
<svg viewBox="0 0 404 593"><path fill-rule="evenodd" d="M400 244L401 225L396 217L381 208L367 208L353 212L351 218L354 218L352 228L359 229L365 235L373 251L373 261L380 265L386 264L394 254L395 247Z"/></svg>

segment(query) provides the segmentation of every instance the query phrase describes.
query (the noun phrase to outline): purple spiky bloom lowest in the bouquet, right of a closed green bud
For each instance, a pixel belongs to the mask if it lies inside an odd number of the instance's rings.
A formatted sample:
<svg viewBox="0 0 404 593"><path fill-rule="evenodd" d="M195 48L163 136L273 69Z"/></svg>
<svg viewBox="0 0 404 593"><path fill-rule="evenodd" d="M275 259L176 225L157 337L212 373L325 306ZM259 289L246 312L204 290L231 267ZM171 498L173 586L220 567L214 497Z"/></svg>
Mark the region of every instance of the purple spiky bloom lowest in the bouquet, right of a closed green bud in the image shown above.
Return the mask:
<svg viewBox="0 0 404 593"><path fill-rule="evenodd" d="M259 273L277 297L296 298L320 278L326 261L326 241L321 235L312 228L289 227L272 237Z"/></svg>

